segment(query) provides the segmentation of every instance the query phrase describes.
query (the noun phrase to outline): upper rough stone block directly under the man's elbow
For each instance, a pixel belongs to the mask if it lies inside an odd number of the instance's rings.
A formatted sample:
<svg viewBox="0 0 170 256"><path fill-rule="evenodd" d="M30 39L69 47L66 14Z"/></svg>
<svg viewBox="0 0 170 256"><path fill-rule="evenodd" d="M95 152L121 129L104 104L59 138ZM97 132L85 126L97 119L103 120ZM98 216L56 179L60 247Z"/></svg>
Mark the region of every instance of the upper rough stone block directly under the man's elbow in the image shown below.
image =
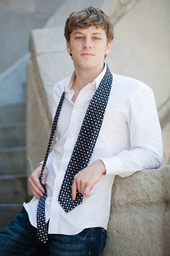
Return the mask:
<svg viewBox="0 0 170 256"><path fill-rule="evenodd" d="M116 214L164 211L167 202L170 202L170 166L143 170L125 178L115 177L111 205Z"/></svg>

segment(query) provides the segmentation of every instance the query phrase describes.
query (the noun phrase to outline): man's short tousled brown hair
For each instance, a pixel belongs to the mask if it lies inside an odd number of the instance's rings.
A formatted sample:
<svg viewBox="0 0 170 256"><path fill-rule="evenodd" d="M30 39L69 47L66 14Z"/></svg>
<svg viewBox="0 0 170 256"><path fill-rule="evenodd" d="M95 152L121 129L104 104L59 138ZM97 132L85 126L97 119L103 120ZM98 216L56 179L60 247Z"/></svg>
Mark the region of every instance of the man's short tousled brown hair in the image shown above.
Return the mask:
<svg viewBox="0 0 170 256"><path fill-rule="evenodd" d="M71 12L65 22L65 39L70 43L70 35L74 29L78 27L87 28L89 26L96 26L97 28L102 27L106 32L107 43L113 40L113 25L110 18L102 10L92 6ZM70 55L72 56L72 54Z"/></svg>

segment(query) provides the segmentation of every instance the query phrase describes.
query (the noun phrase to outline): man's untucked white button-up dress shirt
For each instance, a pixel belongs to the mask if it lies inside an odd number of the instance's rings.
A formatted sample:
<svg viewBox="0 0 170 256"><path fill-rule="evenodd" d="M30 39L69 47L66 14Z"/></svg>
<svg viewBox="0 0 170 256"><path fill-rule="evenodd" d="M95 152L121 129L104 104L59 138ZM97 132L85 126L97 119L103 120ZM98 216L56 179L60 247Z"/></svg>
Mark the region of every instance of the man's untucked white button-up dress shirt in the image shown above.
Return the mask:
<svg viewBox="0 0 170 256"><path fill-rule="evenodd" d="M90 165L102 160L106 175L102 175L93 186L90 197L83 196L82 204L70 212L66 213L59 204L57 199L62 180L86 110L105 71L106 64L102 73L82 88L75 104L71 100L75 71L53 88L53 119L64 90L65 98L57 124L57 143L46 164L49 174L45 184L48 191L45 218L46 222L50 218L49 234L74 235L88 227L103 227L107 230L115 175L126 177L136 171L161 166L162 136L153 90L142 81L112 73L108 105L89 162ZM23 204L34 227L37 227L37 204L35 196L28 204Z"/></svg>

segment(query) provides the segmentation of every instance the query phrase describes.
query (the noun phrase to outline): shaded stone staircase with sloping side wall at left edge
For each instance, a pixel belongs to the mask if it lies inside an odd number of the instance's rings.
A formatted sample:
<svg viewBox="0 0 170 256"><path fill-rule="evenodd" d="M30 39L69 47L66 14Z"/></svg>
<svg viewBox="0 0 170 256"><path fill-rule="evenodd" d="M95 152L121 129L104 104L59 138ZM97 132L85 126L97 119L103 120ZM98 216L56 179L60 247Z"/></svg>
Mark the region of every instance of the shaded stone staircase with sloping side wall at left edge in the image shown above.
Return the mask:
<svg viewBox="0 0 170 256"><path fill-rule="evenodd" d="M0 77L0 230L27 202L25 56Z"/></svg>

